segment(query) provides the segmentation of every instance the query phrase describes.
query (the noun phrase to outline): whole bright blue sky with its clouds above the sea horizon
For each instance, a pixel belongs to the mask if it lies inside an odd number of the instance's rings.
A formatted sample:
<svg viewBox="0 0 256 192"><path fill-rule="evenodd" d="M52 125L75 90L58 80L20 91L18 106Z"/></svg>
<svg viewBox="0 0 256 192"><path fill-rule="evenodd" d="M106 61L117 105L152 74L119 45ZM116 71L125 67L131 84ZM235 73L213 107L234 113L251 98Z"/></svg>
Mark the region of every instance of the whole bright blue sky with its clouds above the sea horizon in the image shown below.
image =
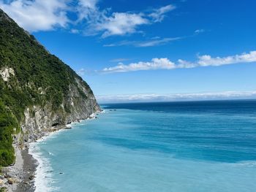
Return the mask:
<svg viewBox="0 0 256 192"><path fill-rule="evenodd" d="M0 0L99 102L256 99L254 0Z"/></svg>

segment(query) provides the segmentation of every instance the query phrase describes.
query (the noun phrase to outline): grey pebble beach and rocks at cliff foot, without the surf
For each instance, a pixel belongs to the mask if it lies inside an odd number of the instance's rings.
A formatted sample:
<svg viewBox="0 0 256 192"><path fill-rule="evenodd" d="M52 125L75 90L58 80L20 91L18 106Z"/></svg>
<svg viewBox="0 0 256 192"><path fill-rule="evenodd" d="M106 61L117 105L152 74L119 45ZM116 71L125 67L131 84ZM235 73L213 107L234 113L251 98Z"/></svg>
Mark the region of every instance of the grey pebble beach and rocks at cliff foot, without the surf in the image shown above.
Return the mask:
<svg viewBox="0 0 256 192"><path fill-rule="evenodd" d="M99 114L99 112L97 114ZM93 113L88 119L92 118L97 118L97 116ZM76 120L73 123L79 122L80 120ZM66 126L45 128L44 131L39 134L37 139L48 137L50 134L62 129L70 129L71 126L69 124ZM37 139L34 139L34 141L31 142L37 142ZM35 191L34 178L36 176L35 172L37 170L38 162L31 154L29 154L29 142L25 142L22 146L14 144L14 147L16 155L15 164L1 168L0 192L33 192Z"/></svg>

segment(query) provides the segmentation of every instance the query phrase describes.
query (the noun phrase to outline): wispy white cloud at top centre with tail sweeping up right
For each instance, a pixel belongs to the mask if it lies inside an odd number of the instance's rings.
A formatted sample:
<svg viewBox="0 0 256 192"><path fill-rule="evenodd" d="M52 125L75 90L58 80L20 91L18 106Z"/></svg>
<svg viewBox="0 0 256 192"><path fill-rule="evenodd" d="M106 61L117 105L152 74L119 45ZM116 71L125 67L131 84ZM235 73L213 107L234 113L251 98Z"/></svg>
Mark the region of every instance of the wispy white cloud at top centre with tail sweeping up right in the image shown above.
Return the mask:
<svg viewBox="0 0 256 192"><path fill-rule="evenodd" d="M87 1L86 1L87 2ZM100 10L97 7L97 1L93 4L80 2L79 21L86 20L87 27L86 35L100 34L102 38L110 37L113 35L123 36L126 34L134 34L140 32L139 26L151 25L156 22L161 22L165 18L165 14L175 9L173 5L167 5L154 9L153 11L146 12L110 12L110 9Z"/></svg>

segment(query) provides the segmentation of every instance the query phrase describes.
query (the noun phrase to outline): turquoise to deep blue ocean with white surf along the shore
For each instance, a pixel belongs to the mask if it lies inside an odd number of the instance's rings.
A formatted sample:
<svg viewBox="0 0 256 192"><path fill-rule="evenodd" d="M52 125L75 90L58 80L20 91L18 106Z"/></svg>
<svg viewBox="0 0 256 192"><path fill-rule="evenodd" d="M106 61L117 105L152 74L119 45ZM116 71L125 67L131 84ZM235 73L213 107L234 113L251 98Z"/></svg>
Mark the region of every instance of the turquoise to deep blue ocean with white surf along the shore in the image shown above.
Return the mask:
<svg viewBox="0 0 256 192"><path fill-rule="evenodd" d="M37 191L256 191L256 101L102 108L31 145Z"/></svg>

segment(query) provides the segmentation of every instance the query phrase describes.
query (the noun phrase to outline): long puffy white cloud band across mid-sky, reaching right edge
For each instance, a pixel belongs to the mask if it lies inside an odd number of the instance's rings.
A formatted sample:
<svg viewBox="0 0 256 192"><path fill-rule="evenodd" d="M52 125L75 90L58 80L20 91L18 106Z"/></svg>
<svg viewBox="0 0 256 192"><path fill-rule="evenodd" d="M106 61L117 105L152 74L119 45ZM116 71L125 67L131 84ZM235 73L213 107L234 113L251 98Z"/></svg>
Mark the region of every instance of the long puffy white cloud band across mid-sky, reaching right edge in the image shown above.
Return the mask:
<svg viewBox="0 0 256 192"><path fill-rule="evenodd" d="M119 63L117 66L102 69L103 73L114 72L134 72L141 70L155 70L155 69L182 69L195 68L200 66L222 66L228 64L250 63L256 61L256 51L249 53L242 53L241 55L230 55L226 57L211 57L211 55L199 55L197 61L185 61L178 59L177 63L170 61L168 58L153 58L151 61L138 63L123 64Z"/></svg>

